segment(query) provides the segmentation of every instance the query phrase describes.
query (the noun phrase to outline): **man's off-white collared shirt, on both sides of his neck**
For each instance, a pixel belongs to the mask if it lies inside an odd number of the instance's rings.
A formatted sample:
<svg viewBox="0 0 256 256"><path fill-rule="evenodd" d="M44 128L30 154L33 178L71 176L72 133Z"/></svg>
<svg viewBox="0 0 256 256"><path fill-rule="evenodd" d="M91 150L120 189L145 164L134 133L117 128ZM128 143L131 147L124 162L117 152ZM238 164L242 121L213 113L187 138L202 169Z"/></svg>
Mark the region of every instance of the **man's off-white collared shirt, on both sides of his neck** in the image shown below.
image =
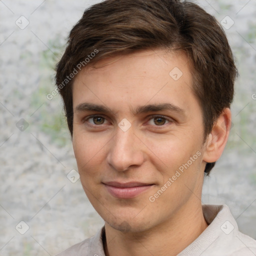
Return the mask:
<svg viewBox="0 0 256 256"><path fill-rule="evenodd" d="M256 240L238 230L227 205L202 205L207 228L177 256L256 256ZM256 228L256 227L255 227ZM97 233L56 256L105 256L102 237Z"/></svg>

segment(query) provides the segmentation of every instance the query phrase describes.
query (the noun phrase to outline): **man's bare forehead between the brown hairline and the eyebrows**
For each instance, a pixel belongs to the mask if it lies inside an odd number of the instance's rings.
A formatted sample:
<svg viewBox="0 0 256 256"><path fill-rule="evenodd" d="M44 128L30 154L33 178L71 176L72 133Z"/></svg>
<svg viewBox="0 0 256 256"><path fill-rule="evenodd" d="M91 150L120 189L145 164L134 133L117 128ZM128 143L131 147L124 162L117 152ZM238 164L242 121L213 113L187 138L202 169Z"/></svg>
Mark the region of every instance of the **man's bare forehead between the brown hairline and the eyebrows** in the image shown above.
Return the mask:
<svg viewBox="0 0 256 256"><path fill-rule="evenodd" d="M73 82L74 108L84 101L130 109L162 102L189 108L194 100L188 59L180 51L143 50L105 58L82 69Z"/></svg>

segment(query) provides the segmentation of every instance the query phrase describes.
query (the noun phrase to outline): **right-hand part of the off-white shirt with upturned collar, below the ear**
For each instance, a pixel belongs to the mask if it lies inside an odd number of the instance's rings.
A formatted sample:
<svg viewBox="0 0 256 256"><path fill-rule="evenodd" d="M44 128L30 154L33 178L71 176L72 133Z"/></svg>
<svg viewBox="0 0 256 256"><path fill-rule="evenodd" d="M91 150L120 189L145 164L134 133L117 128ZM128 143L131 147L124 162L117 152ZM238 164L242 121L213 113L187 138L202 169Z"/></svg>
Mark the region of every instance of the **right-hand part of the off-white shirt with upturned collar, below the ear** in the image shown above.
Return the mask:
<svg viewBox="0 0 256 256"><path fill-rule="evenodd" d="M227 205L203 205L206 229L178 256L256 256L256 240L241 233Z"/></svg>

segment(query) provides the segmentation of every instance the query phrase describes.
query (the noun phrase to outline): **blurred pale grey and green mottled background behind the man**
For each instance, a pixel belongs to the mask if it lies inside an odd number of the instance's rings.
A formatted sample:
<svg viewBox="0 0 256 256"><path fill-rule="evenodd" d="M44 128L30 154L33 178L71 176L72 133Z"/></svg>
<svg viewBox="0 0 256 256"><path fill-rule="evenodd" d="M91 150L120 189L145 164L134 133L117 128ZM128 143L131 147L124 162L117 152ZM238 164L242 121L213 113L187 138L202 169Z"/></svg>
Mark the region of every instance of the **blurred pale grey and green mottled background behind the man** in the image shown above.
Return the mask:
<svg viewBox="0 0 256 256"><path fill-rule="evenodd" d="M55 255L103 225L77 180L60 97L46 98L68 32L96 2L0 0L1 256ZM256 2L194 2L223 26L239 70L233 126L202 202L227 204L255 239Z"/></svg>

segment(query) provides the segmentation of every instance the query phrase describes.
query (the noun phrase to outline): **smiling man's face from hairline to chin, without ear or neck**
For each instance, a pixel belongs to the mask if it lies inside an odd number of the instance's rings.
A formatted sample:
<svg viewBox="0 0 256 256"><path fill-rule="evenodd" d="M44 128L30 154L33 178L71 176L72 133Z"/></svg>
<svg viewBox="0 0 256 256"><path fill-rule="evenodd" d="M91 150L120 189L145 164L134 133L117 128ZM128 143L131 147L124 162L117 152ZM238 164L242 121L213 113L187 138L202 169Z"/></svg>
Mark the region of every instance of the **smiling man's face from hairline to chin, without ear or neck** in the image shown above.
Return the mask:
<svg viewBox="0 0 256 256"><path fill-rule="evenodd" d="M205 166L202 111L187 58L145 50L95 67L78 73L72 88L83 189L117 230L164 224L200 202Z"/></svg>

